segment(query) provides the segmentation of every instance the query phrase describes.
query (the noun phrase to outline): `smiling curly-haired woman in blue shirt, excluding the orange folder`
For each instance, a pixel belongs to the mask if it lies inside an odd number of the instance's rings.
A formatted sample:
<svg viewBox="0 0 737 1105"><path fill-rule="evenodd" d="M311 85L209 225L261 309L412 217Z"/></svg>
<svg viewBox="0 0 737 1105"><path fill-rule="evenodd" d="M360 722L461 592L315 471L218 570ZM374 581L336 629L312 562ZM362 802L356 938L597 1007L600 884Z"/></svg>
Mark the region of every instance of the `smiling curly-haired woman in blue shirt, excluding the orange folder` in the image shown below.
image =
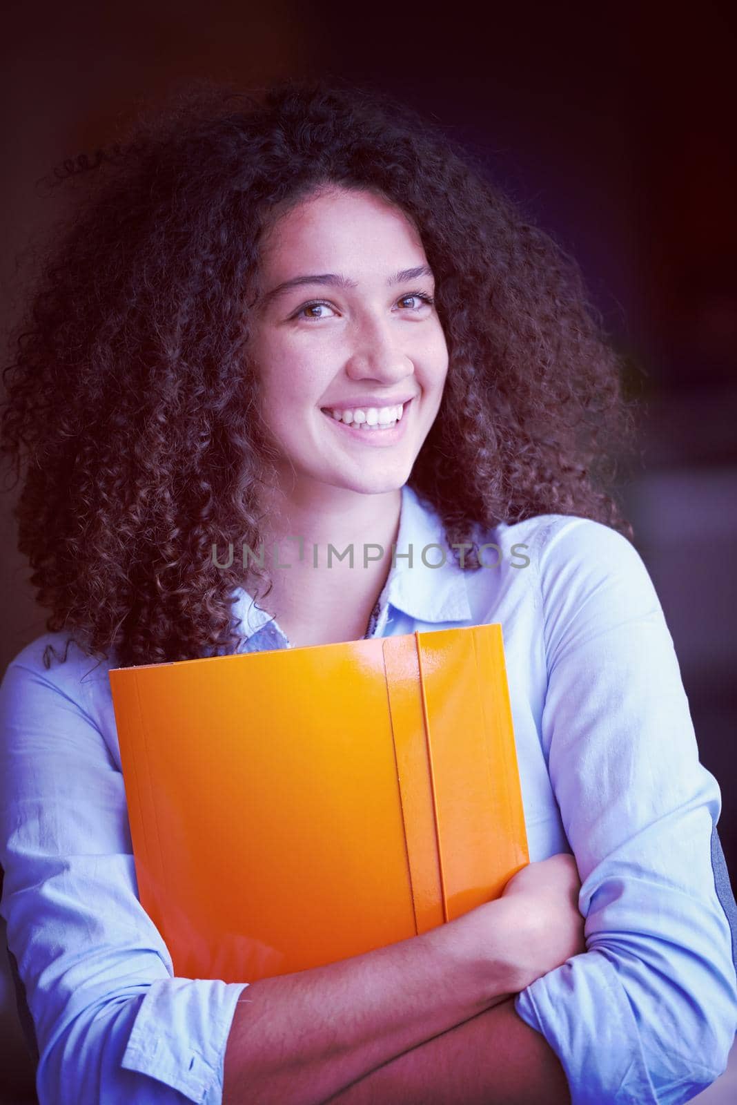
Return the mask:
<svg viewBox="0 0 737 1105"><path fill-rule="evenodd" d="M41 1101L690 1099L736 1027L719 791L606 491L631 422L576 269L354 91L195 101L75 168L3 420L52 610L0 690ZM174 978L108 669L490 621L534 861L502 898L312 971Z"/></svg>

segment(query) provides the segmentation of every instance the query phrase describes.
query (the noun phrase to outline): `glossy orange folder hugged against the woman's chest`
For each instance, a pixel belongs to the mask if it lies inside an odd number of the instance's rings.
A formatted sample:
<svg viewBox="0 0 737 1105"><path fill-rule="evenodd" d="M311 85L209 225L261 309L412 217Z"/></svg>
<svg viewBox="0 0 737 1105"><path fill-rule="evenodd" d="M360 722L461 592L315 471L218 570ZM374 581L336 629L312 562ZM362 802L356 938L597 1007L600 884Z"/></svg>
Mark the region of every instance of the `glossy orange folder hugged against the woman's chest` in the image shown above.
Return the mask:
<svg viewBox="0 0 737 1105"><path fill-rule="evenodd" d="M139 897L179 977L370 951L528 862L501 625L109 677Z"/></svg>

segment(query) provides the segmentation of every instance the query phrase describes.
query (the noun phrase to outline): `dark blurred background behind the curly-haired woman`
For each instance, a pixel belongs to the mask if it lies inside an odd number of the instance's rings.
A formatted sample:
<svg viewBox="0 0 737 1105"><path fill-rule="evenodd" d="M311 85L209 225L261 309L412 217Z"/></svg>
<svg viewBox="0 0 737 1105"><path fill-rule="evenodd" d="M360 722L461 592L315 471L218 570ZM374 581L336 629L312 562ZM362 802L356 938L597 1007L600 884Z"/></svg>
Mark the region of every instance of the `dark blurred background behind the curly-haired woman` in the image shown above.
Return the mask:
<svg viewBox="0 0 737 1105"><path fill-rule="evenodd" d="M682 15L621 3L481 10L482 21L470 7L436 13L421 3L11 6L3 329L19 309L29 245L63 202L36 181L115 138L139 105L183 80L253 87L328 73L434 117L578 259L626 357L642 414L620 495L675 642L702 760L722 785L719 831L737 872L734 15L709 2ZM12 498L0 496L0 671L45 629L15 551ZM4 947L4 927L0 937ZM29 1073L12 1010L0 1032L7 1101L20 1103Z"/></svg>

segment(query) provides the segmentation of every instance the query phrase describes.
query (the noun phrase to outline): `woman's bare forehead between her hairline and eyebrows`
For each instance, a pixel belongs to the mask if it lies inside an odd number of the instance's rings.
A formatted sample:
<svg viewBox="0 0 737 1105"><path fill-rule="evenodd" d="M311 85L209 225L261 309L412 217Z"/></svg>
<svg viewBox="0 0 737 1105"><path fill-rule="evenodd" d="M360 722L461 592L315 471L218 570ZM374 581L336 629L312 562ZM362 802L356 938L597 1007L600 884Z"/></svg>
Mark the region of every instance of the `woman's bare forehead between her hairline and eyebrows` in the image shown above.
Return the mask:
<svg viewBox="0 0 737 1105"><path fill-rule="evenodd" d="M416 228L374 192L330 188L277 217L260 250L261 272L287 278L301 272L373 272L426 263Z"/></svg>

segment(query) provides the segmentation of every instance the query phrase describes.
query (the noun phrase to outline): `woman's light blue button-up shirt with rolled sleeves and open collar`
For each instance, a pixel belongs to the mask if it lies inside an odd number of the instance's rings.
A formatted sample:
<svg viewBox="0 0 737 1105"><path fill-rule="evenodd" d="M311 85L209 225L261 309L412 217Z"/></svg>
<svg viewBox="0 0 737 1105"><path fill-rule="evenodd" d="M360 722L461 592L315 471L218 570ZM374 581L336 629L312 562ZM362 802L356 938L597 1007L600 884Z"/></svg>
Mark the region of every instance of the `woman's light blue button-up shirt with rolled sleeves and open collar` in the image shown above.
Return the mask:
<svg viewBox="0 0 737 1105"><path fill-rule="evenodd" d="M501 623L530 856L574 852L586 918L586 953L516 1010L559 1056L574 1105L688 1101L726 1066L737 989L712 864L719 789L660 602L634 547L599 523L543 515L485 540L488 567L463 572L451 551L428 567L442 528L406 486L396 551L412 545L413 562L397 555L371 632ZM241 651L289 646L244 591L234 613ZM33 641L0 687L0 909L41 1105L215 1105L247 980L173 977L137 897L115 657L96 667L71 645L46 670L44 648L65 640Z"/></svg>

